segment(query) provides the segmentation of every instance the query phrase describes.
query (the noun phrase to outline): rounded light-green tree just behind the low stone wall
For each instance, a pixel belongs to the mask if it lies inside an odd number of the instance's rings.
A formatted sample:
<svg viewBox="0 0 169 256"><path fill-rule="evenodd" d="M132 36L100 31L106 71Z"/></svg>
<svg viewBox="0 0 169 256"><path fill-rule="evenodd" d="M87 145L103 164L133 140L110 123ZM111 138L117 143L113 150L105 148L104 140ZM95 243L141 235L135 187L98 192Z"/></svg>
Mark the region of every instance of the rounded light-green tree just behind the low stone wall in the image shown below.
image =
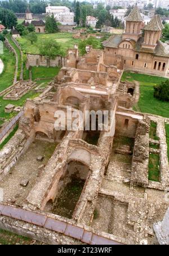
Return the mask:
<svg viewBox="0 0 169 256"><path fill-rule="evenodd" d="M40 53L49 59L55 59L57 55L63 55L61 46L55 40L47 39L42 42Z"/></svg>

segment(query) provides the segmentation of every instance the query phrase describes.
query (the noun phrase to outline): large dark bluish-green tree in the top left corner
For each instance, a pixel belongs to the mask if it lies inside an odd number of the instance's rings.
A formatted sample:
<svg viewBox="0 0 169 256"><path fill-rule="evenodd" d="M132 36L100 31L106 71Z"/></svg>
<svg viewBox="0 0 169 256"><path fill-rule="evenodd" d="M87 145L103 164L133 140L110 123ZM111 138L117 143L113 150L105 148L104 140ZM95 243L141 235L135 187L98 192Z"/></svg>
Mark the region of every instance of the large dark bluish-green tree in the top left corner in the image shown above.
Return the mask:
<svg viewBox="0 0 169 256"><path fill-rule="evenodd" d="M14 12L5 8L0 8L0 20L6 28L15 27L17 24L17 17Z"/></svg>

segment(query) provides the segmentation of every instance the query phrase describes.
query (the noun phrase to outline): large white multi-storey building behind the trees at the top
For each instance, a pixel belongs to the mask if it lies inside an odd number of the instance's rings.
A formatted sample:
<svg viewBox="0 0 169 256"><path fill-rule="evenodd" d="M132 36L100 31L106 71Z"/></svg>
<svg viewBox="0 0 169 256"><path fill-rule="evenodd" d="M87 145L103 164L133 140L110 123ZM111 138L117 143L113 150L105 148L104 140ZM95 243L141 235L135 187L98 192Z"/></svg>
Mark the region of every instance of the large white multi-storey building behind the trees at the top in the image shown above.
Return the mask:
<svg viewBox="0 0 169 256"><path fill-rule="evenodd" d="M70 12L70 9L66 6L48 6L46 7L46 14L54 14L57 22L62 25L74 25L74 12Z"/></svg>

